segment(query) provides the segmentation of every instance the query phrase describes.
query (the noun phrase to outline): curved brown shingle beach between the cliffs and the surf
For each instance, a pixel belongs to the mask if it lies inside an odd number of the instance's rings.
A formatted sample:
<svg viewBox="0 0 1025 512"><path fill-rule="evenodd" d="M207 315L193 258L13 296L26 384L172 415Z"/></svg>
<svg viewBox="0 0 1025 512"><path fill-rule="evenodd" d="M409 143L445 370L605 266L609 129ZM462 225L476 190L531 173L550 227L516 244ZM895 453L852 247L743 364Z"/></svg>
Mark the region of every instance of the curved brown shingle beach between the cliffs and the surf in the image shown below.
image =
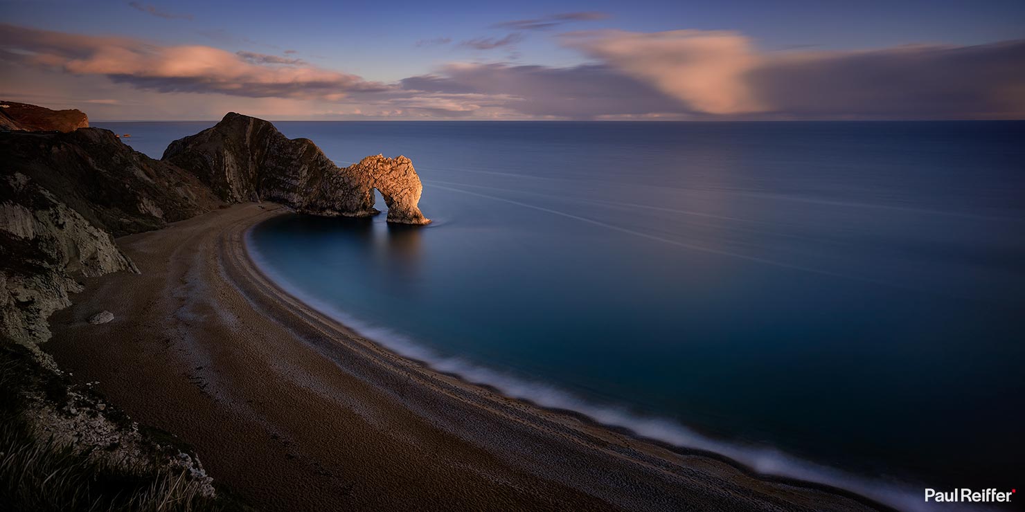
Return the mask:
<svg viewBox="0 0 1025 512"><path fill-rule="evenodd" d="M238 205L118 239L142 273L86 280L43 346L260 510L883 508L396 355L256 269L245 232L284 212ZM114 321L85 322L104 309Z"/></svg>

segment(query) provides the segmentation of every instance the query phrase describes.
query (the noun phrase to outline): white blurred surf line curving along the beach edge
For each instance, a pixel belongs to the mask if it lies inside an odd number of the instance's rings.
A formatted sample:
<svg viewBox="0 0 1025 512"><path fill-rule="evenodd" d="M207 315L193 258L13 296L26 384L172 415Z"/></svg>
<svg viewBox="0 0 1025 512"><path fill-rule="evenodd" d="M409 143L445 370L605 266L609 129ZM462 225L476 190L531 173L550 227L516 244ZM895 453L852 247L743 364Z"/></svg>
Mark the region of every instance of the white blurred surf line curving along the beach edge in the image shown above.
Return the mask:
<svg viewBox="0 0 1025 512"><path fill-rule="evenodd" d="M246 232L245 241L249 256L259 270L289 295L320 313L353 329L361 336L373 340L404 357L422 361L436 371L457 375L474 384L491 386L506 396L524 399L542 408L573 411L603 425L628 429L641 437L683 449L719 454L737 461L760 474L796 478L848 489L900 510L930 511L938 508L934 503L925 503L919 489L907 485L852 475L771 447L745 446L713 439L673 420L640 416L615 406L594 403L549 384L531 382L506 373L496 372L459 357L441 355L405 335L355 318L336 306L302 292L299 287L292 285L284 275L275 271L274 266L260 254L252 242L252 228ZM945 505L944 510L952 510L949 504ZM957 510L987 509L962 507Z"/></svg>

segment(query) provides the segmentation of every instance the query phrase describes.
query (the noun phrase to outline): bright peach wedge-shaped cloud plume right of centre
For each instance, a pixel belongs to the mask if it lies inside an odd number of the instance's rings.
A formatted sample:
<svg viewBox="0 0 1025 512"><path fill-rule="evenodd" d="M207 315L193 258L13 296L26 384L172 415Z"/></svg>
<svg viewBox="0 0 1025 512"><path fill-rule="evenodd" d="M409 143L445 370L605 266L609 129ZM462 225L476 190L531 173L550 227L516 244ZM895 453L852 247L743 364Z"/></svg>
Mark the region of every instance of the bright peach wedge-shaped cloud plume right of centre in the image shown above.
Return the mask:
<svg viewBox="0 0 1025 512"><path fill-rule="evenodd" d="M735 32L576 32L567 45L623 74L651 83L665 94L709 114L766 110L746 75L758 63L749 40Z"/></svg>

